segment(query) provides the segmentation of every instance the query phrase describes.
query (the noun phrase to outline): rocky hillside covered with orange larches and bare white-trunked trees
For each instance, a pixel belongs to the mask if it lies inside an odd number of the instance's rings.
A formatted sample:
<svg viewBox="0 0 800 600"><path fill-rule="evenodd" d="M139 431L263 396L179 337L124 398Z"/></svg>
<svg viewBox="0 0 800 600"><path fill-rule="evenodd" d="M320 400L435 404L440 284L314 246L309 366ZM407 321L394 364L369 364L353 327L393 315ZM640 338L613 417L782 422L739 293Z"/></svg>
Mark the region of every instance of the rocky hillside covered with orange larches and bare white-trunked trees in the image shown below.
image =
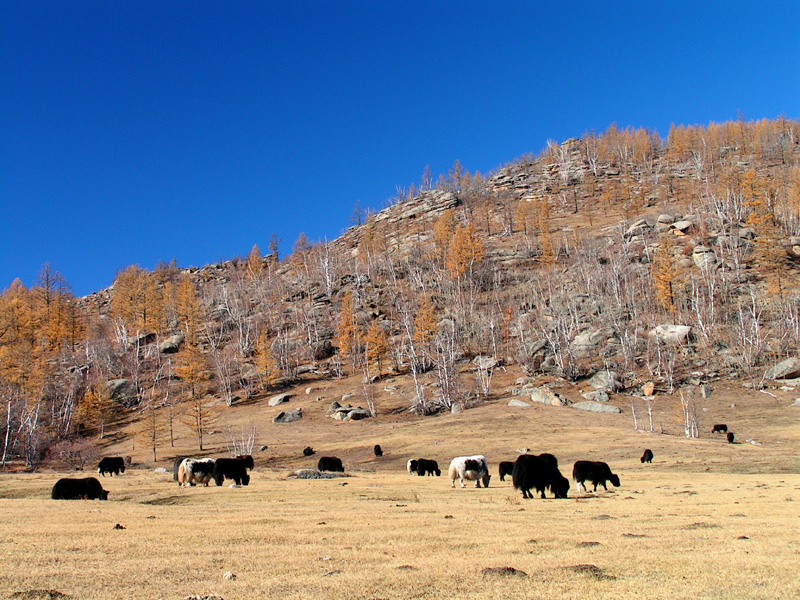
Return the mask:
<svg viewBox="0 0 800 600"><path fill-rule="evenodd" d="M511 363L763 385L800 348L799 158L786 118L612 125L494 173L426 172L286 257L130 266L85 298L45 265L0 295L0 462L84 460L121 415L154 447L180 426L202 448L227 407L312 372L357 375L373 412L372 382L408 374L421 415L491 395Z"/></svg>

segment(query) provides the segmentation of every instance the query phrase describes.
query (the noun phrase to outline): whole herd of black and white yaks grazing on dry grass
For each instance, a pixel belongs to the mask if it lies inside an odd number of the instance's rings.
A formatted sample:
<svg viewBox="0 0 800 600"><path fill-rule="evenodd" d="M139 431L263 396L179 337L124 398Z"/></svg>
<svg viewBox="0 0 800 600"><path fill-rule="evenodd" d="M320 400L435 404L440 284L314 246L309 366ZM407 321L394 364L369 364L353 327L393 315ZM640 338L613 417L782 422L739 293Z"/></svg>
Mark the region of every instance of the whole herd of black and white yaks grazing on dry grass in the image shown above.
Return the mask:
<svg viewBox="0 0 800 600"><path fill-rule="evenodd" d="M712 433L726 433L729 443L733 443L733 434L728 432L726 425L714 425ZM376 457L383 456L383 450L379 444L374 447ZM314 450L306 447L303 450L304 456L311 456ZM653 460L653 452L648 448L642 454L641 462L650 463ZM119 456L107 456L98 465L98 474L105 477L106 473L110 476L119 475L125 472L126 462L130 459L123 459ZM250 474L248 470L253 469L253 457L250 455L237 456L235 458L190 458L179 456L175 459L173 466L173 479L180 486L207 486L213 479L220 486L226 479L234 481L234 485L248 485ZM419 476L442 474L439 464L432 459L417 458L411 459L406 464L409 473L416 473ZM344 472L344 466L340 458L335 456L323 456L317 462L319 471ZM545 498L545 491L550 490L555 498L566 498L569 491L569 480L564 477L558 469L558 460L552 454L528 454L527 449L520 454L514 462L504 461L499 464L500 481L505 481L507 475L511 476L514 489L522 492L523 498L533 498L531 490L535 490ZM458 479L461 487L464 487L464 480L474 481L475 487L488 487L489 467L486 458L482 455L458 456L450 463L448 470L451 487L455 487ZM586 482L594 485L593 491L597 491L597 486L602 485L608 491L606 482L611 482L615 487L619 487L619 476L611 472L611 468L604 462L579 460L572 468L572 479L581 491L583 486L586 491ZM100 482L94 477L80 479L64 478L59 479L53 486L51 493L53 500L107 500L108 490L104 490Z"/></svg>

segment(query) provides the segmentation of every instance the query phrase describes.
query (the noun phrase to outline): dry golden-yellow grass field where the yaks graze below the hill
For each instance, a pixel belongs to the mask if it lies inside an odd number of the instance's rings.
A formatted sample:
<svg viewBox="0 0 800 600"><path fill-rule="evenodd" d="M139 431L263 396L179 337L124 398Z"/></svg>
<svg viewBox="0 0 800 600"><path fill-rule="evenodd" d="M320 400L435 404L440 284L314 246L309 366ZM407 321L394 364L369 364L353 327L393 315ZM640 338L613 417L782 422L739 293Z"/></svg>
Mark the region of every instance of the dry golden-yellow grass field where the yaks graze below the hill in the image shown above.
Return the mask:
<svg viewBox="0 0 800 600"><path fill-rule="evenodd" d="M758 445L727 444L710 425L687 440L636 432L629 413L507 400L341 423L301 396L293 404L307 417L289 425L269 422L278 409L243 407L242 423L263 423L269 445L249 487L184 489L154 469L191 452L190 438L149 464L133 436L119 436L106 453L133 454L138 466L101 478L108 502L50 500L63 473L0 475L0 598L797 598L800 408L788 408L790 395L723 392L703 407L706 419ZM674 428L674 407L658 406ZM306 444L318 455L303 458ZM495 473L523 446L553 452L567 477L575 460L606 460L622 485L522 500L496 475L488 489L462 490L405 472L410 457L446 470L453 456L481 452ZM651 465L639 462L645 447ZM342 457L349 476L287 479L322 453ZM484 571L506 567L516 571Z"/></svg>

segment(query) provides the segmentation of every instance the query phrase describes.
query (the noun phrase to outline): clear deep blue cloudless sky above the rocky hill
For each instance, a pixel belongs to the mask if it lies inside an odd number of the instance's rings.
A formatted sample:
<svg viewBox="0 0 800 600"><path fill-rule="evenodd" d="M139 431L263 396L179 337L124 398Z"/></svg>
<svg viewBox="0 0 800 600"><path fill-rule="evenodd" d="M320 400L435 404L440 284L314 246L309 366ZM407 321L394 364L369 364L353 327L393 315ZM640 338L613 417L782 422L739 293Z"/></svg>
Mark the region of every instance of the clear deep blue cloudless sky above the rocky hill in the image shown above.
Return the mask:
<svg viewBox="0 0 800 600"><path fill-rule="evenodd" d="M458 159L800 116L800 2L0 0L0 290L288 252Z"/></svg>

